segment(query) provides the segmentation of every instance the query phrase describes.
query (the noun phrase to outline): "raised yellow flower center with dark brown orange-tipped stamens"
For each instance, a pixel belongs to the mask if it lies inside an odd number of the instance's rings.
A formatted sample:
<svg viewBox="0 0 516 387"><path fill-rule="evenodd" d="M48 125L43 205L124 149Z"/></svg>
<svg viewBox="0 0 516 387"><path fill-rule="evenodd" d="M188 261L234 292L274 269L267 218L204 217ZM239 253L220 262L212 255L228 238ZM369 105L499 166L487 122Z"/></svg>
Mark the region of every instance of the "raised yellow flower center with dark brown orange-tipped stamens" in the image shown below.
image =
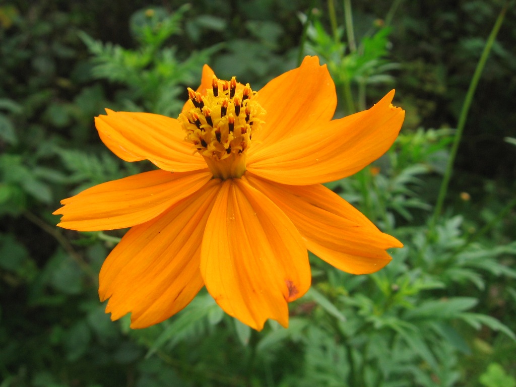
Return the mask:
<svg viewBox="0 0 516 387"><path fill-rule="evenodd" d="M216 178L240 178L246 171L252 132L259 130L265 115L255 95L249 84L237 84L236 77L228 82L214 76L205 95L188 88L188 106L178 119L186 141L204 157Z"/></svg>

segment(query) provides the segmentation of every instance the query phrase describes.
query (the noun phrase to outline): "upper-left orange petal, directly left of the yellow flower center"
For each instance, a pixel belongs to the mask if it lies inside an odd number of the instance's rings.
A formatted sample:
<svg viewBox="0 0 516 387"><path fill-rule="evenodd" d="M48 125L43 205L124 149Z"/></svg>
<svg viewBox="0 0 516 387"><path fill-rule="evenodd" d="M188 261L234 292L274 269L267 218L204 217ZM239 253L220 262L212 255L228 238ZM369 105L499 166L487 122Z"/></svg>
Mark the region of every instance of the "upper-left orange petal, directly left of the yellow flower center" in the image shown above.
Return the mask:
<svg viewBox="0 0 516 387"><path fill-rule="evenodd" d="M148 159L171 172L206 168L201 155L184 141L186 134L178 120L151 113L106 112L107 116L95 117L95 126L106 147L121 159Z"/></svg>

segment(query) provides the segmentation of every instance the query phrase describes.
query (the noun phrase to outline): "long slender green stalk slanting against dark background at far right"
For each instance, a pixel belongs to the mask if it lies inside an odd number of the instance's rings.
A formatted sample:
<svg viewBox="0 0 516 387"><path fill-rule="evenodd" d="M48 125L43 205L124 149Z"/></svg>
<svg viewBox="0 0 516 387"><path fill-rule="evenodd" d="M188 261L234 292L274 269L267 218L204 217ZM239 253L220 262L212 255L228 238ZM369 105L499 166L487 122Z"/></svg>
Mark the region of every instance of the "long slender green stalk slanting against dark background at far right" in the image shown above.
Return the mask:
<svg viewBox="0 0 516 387"><path fill-rule="evenodd" d="M448 164L446 166L446 171L444 173L443 181L441 183L441 188L439 190L439 196L437 198L436 208L434 209L432 218L430 219L429 231L433 234L434 228L436 227L437 219L441 215L441 211L444 204L444 199L446 197L446 191L448 190L448 184L451 179L451 174L453 173L453 165L455 162L455 157L457 156L457 150L459 148L460 140L462 137L462 132L464 131L464 126L466 124L467 114L470 110L471 102L473 101L473 95L475 94L475 90L478 85L478 81L480 80L480 76L482 74L483 68L486 65L486 61L489 57L489 53L491 52L491 48L496 39L496 35L498 34L498 30L502 26L502 22L504 21L505 13L507 12L508 2L505 3L504 7L498 14L498 18L494 23L493 29L491 30L491 34L486 42L482 55L477 63L477 68L475 69L475 73L473 74L473 78L471 79L470 87L467 89L466 96L464 98L464 102L462 104L462 109L460 111L459 122L457 124L457 132L455 133L455 138L453 142L453 146L451 147L450 156L448 158Z"/></svg>

